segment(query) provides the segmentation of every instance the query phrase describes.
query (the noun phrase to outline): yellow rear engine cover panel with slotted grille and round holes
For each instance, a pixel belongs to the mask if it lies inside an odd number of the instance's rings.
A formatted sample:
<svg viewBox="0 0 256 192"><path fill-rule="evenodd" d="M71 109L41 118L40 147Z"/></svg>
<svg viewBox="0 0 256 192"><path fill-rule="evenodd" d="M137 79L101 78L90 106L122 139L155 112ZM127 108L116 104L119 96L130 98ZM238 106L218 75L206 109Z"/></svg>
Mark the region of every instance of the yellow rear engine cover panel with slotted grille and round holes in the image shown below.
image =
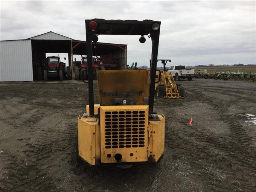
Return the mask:
<svg viewBox="0 0 256 192"><path fill-rule="evenodd" d="M148 105L101 106L101 163L148 161Z"/></svg>

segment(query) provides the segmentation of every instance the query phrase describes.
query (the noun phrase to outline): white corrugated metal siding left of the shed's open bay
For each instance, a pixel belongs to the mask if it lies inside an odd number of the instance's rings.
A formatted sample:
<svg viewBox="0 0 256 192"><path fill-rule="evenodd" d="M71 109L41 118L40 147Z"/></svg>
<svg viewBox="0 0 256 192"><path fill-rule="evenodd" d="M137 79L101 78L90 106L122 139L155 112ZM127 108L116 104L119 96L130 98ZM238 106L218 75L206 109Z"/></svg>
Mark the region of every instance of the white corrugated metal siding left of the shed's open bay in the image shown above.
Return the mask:
<svg viewBox="0 0 256 192"><path fill-rule="evenodd" d="M0 81L33 81L31 40L0 41Z"/></svg>

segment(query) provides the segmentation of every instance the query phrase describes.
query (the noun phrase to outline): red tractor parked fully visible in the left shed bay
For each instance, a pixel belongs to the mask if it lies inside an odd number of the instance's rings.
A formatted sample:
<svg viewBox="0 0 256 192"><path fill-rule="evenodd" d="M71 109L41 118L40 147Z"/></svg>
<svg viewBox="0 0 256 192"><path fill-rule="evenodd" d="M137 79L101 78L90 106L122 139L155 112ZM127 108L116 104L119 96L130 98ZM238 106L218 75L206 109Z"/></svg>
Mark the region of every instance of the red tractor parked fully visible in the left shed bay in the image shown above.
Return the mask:
<svg viewBox="0 0 256 192"><path fill-rule="evenodd" d="M48 78L58 78L60 81L66 76L66 64L60 61L59 56L49 56L46 58L44 66L44 81ZM66 57L64 58L66 60Z"/></svg>

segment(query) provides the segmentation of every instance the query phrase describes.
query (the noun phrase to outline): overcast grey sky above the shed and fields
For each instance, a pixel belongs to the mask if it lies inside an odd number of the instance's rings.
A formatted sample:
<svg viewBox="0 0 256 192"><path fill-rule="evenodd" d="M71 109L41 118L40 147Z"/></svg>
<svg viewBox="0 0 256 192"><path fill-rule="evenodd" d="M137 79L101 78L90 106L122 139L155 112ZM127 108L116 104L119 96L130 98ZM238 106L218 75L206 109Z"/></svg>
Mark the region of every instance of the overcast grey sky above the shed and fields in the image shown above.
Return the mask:
<svg viewBox="0 0 256 192"><path fill-rule="evenodd" d="M256 1L0 1L0 40L53 31L85 39L85 19L161 21L158 59L172 64L256 63ZM149 65L151 39L99 36L128 44L127 64ZM159 64L161 66L161 64Z"/></svg>

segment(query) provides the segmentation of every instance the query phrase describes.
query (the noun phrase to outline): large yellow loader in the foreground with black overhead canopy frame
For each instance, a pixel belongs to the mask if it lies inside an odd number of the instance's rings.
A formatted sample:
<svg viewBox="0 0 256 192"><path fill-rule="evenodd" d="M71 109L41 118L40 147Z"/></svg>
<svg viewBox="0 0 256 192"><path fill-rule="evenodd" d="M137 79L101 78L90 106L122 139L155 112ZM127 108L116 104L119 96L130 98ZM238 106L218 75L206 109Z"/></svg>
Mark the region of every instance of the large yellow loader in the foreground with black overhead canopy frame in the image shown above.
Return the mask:
<svg viewBox="0 0 256 192"><path fill-rule="evenodd" d="M164 153L165 116L153 112L160 21L85 20L88 96L78 118L78 157L90 165L158 162ZM99 70L99 104L93 96L92 41L98 35L139 35L152 41L148 70ZM98 37L97 37L98 38ZM148 103L145 103L148 98Z"/></svg>

